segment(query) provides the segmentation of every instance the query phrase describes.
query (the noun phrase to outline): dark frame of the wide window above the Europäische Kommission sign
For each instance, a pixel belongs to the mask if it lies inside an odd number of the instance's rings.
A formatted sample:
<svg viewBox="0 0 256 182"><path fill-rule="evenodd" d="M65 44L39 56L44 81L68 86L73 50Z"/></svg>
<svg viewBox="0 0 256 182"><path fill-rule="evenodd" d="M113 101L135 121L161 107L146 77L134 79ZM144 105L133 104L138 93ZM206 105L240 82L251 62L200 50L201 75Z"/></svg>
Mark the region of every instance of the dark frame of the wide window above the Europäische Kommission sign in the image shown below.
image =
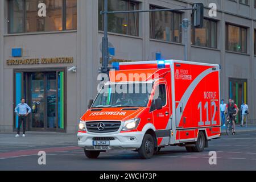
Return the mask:
<svg viewBox="0 0 256 182"><path fill-rule="evenodd" d="M26 2L27 0L22 0L23 1L23 31L22 32L11 32L10 31L10 28L11 28L11 11L10 11L10 3L11 1L8 1L7 2L7 11L8 11L8 20L7 20L7 23L8 23L8 34L27 34L27 33L33 33L33 32L27 32L27 28L26 28L26 15L27 15L27 12L26 12ZM77 2L77 1L76 1ZM61 31L72 31L72 30L77 30L77 27L74 28L74 29L68 29L67 30L67 0L61 0L61 5L62 5L62 8L61 8L61 13L62 13L62 17L61 17L61 23L62 23L62 30L59 30L59 32ZM77 19L76 19L77 20ZM55 31L34 31L34 32L55 32Z"/></svg>

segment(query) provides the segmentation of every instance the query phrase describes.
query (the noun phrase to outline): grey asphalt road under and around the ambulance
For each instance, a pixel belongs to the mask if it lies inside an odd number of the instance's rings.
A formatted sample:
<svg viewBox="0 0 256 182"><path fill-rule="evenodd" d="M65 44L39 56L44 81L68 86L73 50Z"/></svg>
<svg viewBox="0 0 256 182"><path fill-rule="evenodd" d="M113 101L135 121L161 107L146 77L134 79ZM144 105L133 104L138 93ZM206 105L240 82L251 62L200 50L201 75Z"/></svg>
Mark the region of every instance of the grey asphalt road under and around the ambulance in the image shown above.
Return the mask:
<svg viewBox="0 0 256 182"><path fill-rule="evenodd" d="M1 136L3 137L3 136ZM38 164L38 151L46 151L46 165ZM209 164L209 152L217 152L217 164ZM256 170L256 133L222 136L209 142L201 153L184 147L166 147L150 160L137 152L104 152L98 159L87 159L76 143L52 145L9 145L0 143L0 170Z"/></svg>

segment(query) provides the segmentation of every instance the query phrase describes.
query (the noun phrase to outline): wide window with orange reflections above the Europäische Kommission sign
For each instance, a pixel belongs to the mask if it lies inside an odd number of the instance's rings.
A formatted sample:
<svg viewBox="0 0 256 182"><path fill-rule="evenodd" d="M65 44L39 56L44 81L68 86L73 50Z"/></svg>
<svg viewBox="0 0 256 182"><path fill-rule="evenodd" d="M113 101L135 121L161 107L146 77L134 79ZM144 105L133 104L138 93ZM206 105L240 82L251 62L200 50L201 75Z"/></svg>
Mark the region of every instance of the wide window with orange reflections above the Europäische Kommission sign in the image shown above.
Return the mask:
<svg viewBox="0 0 256 182"><path fill-rule="evenodd" d="M38 16L39 3L46 17ZM76 30L76 0L9 0L9 33Z"/></svg>

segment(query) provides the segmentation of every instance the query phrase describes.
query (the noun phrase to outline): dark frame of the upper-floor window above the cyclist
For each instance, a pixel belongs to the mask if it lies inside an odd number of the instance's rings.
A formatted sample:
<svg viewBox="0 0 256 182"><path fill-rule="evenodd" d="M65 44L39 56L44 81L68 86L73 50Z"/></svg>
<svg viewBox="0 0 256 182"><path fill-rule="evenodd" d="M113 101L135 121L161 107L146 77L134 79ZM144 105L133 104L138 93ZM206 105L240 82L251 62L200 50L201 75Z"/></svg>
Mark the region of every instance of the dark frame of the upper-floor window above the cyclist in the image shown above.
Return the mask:
<svg viewBox="0 0 256 182"><path fill-rule="evenodd" d="M241 45L241 50L242 50L242 28L245 29L245 33L246 33L246 35L245 35L246 36L245 37L245 52L242 52L242 51L232 51L232 50L229 49L229 26L238 27L240 29L240 35L239 35L240 42L239 43ZM248 51L248 49L247 49L247 38L248 38L247 27L240 26L238 24L233 24L233 23L226 22L225 28L226 28L226 51L247 54L247 51Z"/></svg>

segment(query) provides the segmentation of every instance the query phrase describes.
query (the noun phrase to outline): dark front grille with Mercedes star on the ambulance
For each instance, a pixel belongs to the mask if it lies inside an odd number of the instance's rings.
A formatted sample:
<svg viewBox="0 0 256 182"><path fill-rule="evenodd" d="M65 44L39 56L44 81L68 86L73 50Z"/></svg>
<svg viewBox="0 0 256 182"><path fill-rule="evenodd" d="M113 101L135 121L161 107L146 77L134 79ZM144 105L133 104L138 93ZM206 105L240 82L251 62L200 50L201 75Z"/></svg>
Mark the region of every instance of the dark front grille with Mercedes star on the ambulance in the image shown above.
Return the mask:
<svg viewBox="0 0 256 182"><path fill-rule="evenodd" d="M102 125L103 123L103 125ZM102 126L104 129L102 129ZM121 126L120 121L92 121L86 122L86 129L92 133L112 133L118 131Z"/></svg>

